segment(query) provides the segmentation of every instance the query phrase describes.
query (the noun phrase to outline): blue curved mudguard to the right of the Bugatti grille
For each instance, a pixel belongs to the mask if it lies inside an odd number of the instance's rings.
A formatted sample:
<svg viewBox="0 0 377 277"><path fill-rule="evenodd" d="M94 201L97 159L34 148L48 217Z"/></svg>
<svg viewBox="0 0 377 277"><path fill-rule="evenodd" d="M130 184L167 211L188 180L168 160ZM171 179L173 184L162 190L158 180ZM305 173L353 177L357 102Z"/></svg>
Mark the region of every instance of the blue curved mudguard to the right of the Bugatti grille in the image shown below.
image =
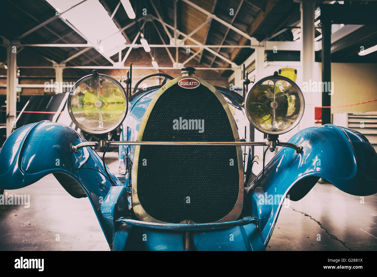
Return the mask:
<svg viewBox="0 0 377 277"><path fill-rule="evenodd" d="M283 147L245 188L245 208L261 219L265 247L284 198L300 200L321 177L348 194L377 192L377 154L359 132L326 124L304 129L289 142L302 151Z"/></svg>

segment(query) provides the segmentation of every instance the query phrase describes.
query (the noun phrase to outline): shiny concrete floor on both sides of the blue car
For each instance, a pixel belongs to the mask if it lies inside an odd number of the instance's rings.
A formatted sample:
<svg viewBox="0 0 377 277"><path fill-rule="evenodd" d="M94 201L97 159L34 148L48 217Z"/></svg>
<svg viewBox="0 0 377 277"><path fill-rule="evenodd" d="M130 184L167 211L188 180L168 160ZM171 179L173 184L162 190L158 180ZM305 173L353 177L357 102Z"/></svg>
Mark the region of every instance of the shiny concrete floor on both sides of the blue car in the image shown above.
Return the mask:
<svg viewBox="0 0 377 277"><path fill-rule="evenodd" d="M117 153L106 157L116 171ZM30 194L31 205L0 206L0 250L109 250L89 200L71 197L54 176L7 192ZM317 184L282 208L267 250L377 250L377 194L362 204Z"/></svg>

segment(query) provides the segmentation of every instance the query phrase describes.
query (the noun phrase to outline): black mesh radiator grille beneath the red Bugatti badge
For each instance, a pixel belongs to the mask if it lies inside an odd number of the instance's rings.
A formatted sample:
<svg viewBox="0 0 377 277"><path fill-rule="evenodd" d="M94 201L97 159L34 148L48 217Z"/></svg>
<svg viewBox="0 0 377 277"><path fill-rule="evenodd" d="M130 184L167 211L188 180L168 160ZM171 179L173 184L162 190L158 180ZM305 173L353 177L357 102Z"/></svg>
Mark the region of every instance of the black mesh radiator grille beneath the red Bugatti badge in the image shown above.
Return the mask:
<svg viewBox="0 0 377 277"><path fill-rule="evenodd" d="M173 120L179 117L204 120L204 132L173 130ZM183 89L175 84L155 103L142 140L234 141L234 136L213 92L203 85ZM140 146L137 193L141 205L155 219L169 223L218 221L233 209L238 191L236 146Z"/></svg>

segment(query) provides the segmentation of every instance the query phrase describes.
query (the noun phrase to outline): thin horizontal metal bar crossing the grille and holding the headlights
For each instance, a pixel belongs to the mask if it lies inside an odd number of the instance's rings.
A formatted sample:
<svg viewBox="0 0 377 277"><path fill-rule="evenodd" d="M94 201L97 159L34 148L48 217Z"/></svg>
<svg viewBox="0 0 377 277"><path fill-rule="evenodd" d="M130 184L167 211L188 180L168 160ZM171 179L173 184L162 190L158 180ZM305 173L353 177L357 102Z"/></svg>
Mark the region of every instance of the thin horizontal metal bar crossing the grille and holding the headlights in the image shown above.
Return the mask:
<svg viewBox="0 0 377 277"><path fill-rule="evenodd" d="M77 150L87 146L104 147L109 145L238 145L238 146L268 146L270 142L248 142L248 141L106 141L101 144L97 141L81 142L78 145L72 145L72 150L77 153ZM278 142L276 146L289 147L300 153L302 146L297 146L289 142ZM271 147L270 147L271 148ZM273 147L274 148L274 147Z"/></svg>

